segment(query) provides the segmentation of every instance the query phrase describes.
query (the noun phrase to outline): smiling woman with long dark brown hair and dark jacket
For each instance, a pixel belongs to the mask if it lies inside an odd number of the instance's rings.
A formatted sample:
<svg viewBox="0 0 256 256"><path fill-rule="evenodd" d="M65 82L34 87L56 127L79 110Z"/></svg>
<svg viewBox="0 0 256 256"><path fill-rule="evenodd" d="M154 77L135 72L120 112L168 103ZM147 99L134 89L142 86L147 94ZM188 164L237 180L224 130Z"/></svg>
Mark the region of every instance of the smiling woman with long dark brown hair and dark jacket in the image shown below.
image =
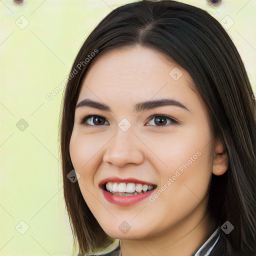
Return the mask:
<svg viewBox="0 0 256 256"><path fill-rule="evenodd" d="M111 11L79 50L63 101L78 254L254 255L252 95L204 10L140 1Z"/></svg>

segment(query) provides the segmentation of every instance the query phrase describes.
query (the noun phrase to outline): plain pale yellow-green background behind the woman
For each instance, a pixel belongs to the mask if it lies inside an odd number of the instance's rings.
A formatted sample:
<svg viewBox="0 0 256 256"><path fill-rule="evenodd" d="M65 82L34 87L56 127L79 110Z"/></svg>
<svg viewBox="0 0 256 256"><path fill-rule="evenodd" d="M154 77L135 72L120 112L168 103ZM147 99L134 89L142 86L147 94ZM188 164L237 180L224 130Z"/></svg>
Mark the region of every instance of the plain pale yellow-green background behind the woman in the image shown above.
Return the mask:
<svg viewBox="0 0 256 256"><path fill-rule="evenodd" d="M15 6L0 0L0 255L72 254L57 140L63 89L50 100L46 95L67 77L95 25L127 2L25 0ZM225 26L255 92L256 1L223 0L217 8L205 0L183 2ZM21 118L28 127L16 126Z"/></svg>

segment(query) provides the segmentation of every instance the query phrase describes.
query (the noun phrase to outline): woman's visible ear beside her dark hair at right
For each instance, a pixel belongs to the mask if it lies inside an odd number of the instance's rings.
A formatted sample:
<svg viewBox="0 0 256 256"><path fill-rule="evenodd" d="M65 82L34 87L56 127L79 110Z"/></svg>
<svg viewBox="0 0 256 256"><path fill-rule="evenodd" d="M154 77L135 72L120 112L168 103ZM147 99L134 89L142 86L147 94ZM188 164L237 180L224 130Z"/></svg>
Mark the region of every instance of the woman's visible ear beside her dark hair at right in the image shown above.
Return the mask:
<svg viewBox="0 0 256 256"><path fill-rule="evenodd" d="M213 148L212 173L218 176L224 174L227 170L227 164L227 154L221 141L217 138Z"/></svg>

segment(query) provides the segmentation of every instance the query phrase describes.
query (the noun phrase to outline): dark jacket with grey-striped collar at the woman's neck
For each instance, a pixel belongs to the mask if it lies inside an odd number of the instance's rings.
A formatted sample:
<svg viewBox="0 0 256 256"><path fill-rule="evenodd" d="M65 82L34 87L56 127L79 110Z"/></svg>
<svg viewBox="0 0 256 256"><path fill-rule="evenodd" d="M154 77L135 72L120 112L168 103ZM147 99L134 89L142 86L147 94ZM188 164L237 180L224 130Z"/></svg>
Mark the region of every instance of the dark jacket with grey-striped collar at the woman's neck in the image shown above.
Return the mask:
<svg viewBox="0 0 256 256"><path fill-rule="evenodd" d="M118 246L105 254L91 254L88 256L121 256L120 243ZM139 256L139 255L134 255ZM169 256L169 255L161 255ZM179 255L176 255L179 256ZM256 255L245 255L241 252L234 251L226 239L226 234L218 226L214 232L208 236L206 241L195 250L191 256L256 256Z"/></svg>

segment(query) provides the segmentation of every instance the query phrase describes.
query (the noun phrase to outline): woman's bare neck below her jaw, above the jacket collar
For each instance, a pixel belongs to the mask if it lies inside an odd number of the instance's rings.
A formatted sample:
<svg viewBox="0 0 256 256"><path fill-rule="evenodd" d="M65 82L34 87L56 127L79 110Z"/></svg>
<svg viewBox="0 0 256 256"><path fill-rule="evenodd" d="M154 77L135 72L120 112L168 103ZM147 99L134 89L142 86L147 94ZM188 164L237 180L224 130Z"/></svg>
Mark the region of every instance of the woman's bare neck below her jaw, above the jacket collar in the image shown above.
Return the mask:
<svg viewBox="0 0 256 256"><path fill-rule="evenodd" d="M216 223L205 211L205 201L178 223L160 234L141 239L121 239L122 256L190 256L214 231Z"/></svg>

